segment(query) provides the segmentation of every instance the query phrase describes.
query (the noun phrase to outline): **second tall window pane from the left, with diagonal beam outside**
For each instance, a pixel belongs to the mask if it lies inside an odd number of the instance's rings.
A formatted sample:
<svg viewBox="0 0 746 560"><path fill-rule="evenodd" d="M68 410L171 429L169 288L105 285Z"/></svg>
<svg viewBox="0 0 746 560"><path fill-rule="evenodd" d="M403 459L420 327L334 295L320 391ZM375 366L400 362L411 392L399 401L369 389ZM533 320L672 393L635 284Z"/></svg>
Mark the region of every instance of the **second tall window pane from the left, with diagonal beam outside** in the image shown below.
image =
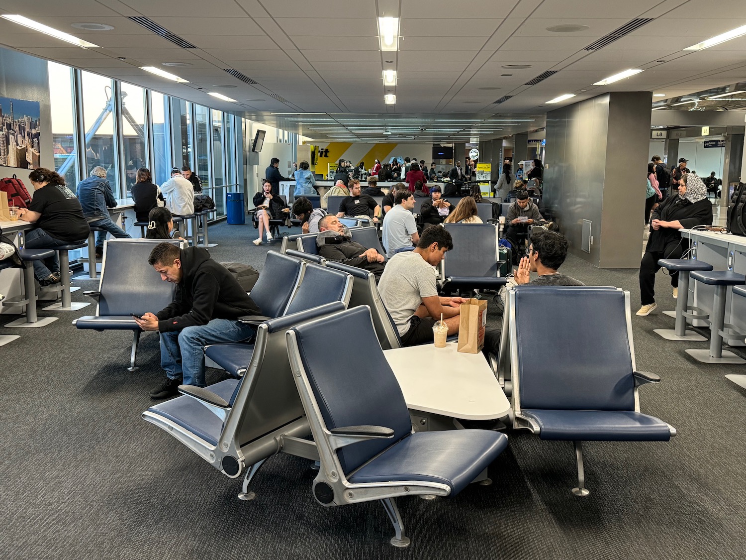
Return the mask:
<svg viewBox="0 0 746 560"><path fill-rule="evenodd" d="M86 131L86 169L101 166L106 169L114 193L121 193L119 158L114 144L113 82L91 72L81 72L83 81L83 125Z"/></svg>

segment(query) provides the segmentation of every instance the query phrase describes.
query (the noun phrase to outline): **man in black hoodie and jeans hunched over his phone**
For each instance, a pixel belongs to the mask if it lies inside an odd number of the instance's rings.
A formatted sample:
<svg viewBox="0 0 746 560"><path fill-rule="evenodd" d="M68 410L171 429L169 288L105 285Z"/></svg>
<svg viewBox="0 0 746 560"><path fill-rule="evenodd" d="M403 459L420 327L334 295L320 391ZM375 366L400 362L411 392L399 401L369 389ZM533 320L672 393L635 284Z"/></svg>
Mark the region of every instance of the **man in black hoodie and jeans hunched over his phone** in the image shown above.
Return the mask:
<svg viewBox="0 0 746 560"><path fill-rule="evenodd" d="M174 301L135 322L143 331L160 332L160 366L166 381L150 392L154 399L178 393L179 385L204 387L204 346L239 342L254 329L238 321L260 309L233 275L200 247L179 249L158 243L148 258L163 281L177 284Z"/></svg>

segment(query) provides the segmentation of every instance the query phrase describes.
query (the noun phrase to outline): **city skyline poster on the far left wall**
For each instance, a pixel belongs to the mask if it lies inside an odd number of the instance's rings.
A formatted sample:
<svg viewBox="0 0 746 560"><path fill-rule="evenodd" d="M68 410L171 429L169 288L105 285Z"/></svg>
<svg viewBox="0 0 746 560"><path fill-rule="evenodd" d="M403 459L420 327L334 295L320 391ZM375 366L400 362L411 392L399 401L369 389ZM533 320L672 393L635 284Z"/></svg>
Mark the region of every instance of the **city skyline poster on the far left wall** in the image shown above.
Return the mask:
<svg viewBox="0 0 746 560"><path fill-rule="evenodd" d="M0 166L40 167L39 102L0 97Z"/></svg>

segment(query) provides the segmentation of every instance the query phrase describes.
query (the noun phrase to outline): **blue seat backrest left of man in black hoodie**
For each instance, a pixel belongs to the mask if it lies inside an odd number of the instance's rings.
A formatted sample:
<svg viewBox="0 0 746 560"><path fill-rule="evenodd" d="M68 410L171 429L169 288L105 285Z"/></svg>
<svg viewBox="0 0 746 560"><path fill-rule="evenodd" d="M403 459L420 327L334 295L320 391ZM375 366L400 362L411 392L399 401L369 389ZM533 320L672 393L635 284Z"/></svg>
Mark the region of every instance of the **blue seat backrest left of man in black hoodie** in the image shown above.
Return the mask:
<svg viewBox="0 0 746 560"><path fill-rule="evenodd" d="M161 239L116 239L106 242L98 290L98 315L157 313L174 300L175 285L164 282L148 257ZM169 243L178 245L178 240Z"/></svg>

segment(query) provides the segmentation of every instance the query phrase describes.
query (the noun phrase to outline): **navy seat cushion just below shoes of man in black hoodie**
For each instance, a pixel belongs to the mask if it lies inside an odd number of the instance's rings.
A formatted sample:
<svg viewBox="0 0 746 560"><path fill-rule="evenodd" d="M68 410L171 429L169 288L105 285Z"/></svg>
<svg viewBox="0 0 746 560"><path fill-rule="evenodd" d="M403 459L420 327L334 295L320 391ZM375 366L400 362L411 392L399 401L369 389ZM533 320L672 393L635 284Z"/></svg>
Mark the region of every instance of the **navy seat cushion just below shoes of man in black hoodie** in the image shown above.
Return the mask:
<svg viewBox="0 0 746 560"><path fill-rule="evenodd" d="M238 384L238 379L226 379L225 381L210 385L207 389L221 396L226 401L231 402L233 392L236 391ZM183 395L167 400L166 402L161 402L148 408L148 412L172 420L182 428L212 445L218 444L218 439L223 429L222 420L191 396Z"/></svg>

